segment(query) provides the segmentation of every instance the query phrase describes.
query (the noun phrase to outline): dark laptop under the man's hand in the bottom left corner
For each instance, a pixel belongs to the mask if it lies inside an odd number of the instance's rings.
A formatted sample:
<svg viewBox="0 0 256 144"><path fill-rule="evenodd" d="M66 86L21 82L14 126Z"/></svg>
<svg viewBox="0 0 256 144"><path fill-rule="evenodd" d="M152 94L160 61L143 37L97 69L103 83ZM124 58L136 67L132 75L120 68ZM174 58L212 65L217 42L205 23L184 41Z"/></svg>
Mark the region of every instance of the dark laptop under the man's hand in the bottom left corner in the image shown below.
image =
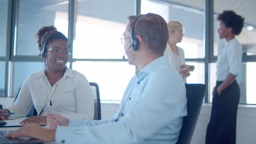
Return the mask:
<svg viewBox="0 0 256 144"><path fill-rule="evenodd" d="M4 137L4 135L8 134L9 131L7 130L0 130L0 143L21 143L21 144L25 144L25 143L44 143L41 140L36 140L36 139L30 139L28 137L21 137L20 139L7 139Z"/></svg>

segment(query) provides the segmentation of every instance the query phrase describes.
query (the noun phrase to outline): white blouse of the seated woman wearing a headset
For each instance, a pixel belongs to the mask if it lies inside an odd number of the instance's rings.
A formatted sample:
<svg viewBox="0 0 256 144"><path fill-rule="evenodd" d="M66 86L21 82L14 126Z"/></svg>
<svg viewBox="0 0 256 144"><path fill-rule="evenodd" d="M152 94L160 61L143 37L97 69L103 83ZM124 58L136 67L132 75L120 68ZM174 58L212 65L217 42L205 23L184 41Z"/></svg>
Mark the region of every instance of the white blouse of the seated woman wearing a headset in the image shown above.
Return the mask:
<svg viewBox="0 0 256 144"><path fill-rule="evenodd" d="M48 112L67 118L94 118L94 97L89 82L83 74L69 68L53 87L45 76L45 70L28 76L14 105L7 107L15 112L9 118L26 116L32 104L38 115L43 110L42 115Z"/></svg>

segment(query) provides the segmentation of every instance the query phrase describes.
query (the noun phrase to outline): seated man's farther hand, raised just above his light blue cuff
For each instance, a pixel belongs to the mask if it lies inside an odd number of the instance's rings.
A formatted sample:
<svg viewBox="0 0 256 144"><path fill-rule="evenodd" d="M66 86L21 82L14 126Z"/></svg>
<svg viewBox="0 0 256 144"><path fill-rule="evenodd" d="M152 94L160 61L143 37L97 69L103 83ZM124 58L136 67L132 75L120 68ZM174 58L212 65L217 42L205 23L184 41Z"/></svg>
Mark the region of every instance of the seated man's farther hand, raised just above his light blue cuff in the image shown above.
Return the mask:
<svg viewBox="0 0 256 144"><path fill-rule="evenodd" d="M56 129L58 125L68 126L69 119L61 115L47 113L47 124L50 129Z"/></svg>

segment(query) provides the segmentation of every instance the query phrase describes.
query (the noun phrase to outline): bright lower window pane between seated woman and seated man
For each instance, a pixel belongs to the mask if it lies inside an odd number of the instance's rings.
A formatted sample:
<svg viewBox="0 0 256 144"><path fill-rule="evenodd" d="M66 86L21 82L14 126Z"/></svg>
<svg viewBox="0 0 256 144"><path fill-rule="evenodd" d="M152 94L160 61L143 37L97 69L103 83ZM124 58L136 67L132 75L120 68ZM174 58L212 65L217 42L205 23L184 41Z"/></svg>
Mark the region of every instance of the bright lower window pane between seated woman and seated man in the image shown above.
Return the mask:
<svg viewBox="0 0 256 144"><path fill-rule="evenodd" d="M100 87L101 100L121 100L126 86L135 75L135 66L127 62L74 62L73 69Z"/></svg>

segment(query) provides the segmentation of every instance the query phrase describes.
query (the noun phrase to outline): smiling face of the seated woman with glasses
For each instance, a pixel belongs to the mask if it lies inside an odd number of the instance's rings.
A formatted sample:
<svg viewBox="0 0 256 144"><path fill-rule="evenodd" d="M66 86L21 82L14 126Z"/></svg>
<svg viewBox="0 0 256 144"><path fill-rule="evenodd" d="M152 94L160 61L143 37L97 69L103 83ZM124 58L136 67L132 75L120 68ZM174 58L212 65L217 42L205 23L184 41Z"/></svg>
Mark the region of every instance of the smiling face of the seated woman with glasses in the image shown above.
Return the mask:
<svg viewBox="0 0 256 144"><path fill-rule="evenodd" d="M46 70L61 71L65 69L69 58L66 40L55 39L47 45Z"/></svg>

